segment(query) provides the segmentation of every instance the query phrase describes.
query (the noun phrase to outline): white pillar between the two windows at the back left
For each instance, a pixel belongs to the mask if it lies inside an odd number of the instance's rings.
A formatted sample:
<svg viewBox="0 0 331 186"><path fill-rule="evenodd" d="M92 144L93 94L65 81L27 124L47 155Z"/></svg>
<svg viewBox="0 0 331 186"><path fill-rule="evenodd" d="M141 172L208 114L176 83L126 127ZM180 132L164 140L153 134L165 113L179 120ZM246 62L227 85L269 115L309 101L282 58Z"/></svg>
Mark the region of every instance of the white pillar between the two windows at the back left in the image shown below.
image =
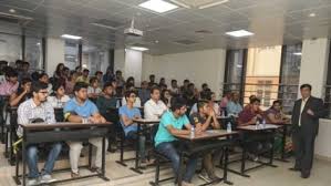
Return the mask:
<svg viewBox="0 0 331 186"><path fill-rule="evenodd" d="M46 73L52 76L56 65L64 62L64 41L61 39L46 39Z"/></svg>

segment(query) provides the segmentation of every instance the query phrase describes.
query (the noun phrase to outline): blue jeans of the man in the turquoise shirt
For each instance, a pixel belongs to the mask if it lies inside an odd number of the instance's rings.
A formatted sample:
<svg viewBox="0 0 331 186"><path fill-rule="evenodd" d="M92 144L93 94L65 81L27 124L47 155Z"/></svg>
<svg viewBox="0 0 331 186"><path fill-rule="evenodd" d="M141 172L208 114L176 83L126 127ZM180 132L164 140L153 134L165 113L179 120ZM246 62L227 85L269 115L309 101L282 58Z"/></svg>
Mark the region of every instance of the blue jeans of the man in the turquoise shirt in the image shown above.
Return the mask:
<svg viewBox="0 0 331 186"><path fill-rule="evenodd" d="M167 158L172 161L172 166L174 170L174 175L177 176L179 174L179 155L176 151L176 146L178 144L176 142L164 142L156 146L156 151L165 155ZM186 165L186 172L183 176L183 180L190 183L197 166L197 156L193 155L189 157L189 161Z"/></svg>

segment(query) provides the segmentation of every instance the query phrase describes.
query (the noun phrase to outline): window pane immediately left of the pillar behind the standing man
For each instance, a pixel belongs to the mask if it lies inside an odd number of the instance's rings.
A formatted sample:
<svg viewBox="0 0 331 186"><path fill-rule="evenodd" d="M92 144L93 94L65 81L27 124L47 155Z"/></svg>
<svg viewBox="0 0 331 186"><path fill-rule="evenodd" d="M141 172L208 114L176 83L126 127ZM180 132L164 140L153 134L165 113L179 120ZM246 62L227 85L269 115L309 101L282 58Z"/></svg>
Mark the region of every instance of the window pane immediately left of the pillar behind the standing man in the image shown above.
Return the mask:
<svg viewBox="0 0 331 186"><path fill-rule="evenodd" d="M290 113L298 97L302 44L283 45L278 97L285 113Z"/></svg>

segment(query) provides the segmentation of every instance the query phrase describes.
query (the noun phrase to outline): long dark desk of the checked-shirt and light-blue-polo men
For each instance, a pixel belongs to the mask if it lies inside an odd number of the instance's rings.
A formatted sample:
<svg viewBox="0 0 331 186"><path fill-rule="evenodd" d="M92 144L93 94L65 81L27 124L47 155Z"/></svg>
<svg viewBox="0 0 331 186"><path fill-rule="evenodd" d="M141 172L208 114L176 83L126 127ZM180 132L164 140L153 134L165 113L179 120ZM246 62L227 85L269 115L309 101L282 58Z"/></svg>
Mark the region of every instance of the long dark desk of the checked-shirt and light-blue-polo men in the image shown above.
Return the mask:
<svg viewBox="0 0 331 186"><path fill-rule="evenodd" d="M14 180L20 184L20 177L22 177L23 186L25 186L25 173L27 173L27 157L25 148L29 144L39 144L46 142L61 142L61 141L84 141L92 137L102 137L102 172L91 174L87 176L81 176L77 178L69 178L56 180L54 183L62 183L74 179L82 179L92 176L99 176L104 180L110 180L105 177L105 137L108 133L108 127L112 123L105 124L82 124L82 123L33 123L33 124L20 124L23 128L23 142L22 142L22 162L23 174L19 175L19 168L17 166L17 176ZM52 184L54 184L52 183Z"/></svg>

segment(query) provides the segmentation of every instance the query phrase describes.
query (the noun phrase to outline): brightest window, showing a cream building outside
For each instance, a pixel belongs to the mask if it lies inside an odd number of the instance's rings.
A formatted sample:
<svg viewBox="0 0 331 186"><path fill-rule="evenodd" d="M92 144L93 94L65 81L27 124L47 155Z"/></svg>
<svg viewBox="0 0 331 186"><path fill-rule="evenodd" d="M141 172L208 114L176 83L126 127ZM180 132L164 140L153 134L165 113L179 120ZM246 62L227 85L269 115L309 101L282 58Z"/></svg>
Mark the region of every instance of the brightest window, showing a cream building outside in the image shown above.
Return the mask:
<svg viewBox="0 0 331 186"><path fill-rule="evenodd" d="M244 104L257 95L266 110L278 100L280 59L281 45L248 49Z"/></svg>

